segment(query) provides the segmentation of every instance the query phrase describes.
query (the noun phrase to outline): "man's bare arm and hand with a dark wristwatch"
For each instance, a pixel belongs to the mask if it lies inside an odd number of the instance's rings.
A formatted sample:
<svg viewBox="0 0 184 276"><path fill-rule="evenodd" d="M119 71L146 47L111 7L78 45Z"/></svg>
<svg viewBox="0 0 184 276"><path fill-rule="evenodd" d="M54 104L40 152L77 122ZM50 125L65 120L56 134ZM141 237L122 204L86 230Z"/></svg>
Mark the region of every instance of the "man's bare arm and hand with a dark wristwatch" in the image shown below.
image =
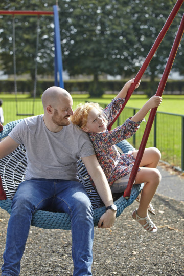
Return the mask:
<svg viewBox="0 0 184 276"><path fill-rule="evenodd" d="M97 160L96 155L90 155L87 157L82 157L86 169L93 179L97 192L101 197L105 206L113 204L112 193L106 179L106 176ZM116 220L116 212L112 210L107 210L100 218L98 222L98 227L100 228L109 228L113 226L114 221Z"/></svg>

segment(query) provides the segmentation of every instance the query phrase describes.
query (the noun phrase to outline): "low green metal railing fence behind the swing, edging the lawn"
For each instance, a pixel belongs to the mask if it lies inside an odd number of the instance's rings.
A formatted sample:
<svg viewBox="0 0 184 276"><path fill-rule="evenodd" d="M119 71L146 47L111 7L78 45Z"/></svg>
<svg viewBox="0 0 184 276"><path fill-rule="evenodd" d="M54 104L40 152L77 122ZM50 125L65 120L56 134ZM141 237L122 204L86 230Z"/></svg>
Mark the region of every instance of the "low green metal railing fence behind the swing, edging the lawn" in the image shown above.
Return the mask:
<svg viewBox="0 0 184 276"><path fill-rule="evenodd" d="M84 102L83 99L74 100L73 108L75 109L77 104ZM104 103L102 106L106 106ZM14 121L17 119L28 117L27 115L33 111L33 102L31 100L19 100L16 106L13 100L4 100L3 110L5 123ZM124 121L133 116L139 109L126 108L123 110L117 121L114 123L113 128L124 123ZM42 114L43 108L40 99L36 99L34 102L34 115ZM145 117L148 120L149 114ZM139 148L146 123L142 122L140 129L133 137L128 139L129 143L135 148ZM159 148L162 153L162 160L169 163L176 169L184 171L184 116L172 113L157 112L154 123L149 135L149 139L146 147L155 146Z"/></svg>

